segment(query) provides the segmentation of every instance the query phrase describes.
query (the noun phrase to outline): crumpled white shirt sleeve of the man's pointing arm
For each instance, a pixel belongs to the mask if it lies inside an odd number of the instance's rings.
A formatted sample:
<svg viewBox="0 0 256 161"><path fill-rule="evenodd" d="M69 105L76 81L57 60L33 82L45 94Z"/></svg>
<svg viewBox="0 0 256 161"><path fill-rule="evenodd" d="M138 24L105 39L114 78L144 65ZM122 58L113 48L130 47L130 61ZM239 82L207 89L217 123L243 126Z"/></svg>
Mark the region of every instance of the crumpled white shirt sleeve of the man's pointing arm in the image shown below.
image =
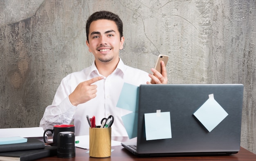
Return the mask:
<svg viewBox="0 0 256 161"><path fill-rule="evenodd" d="M40 121L40 127L53 129L54 125L71 124L74 119L76 106L73 106L68 98L72 93L72 88L68 86L65 79L61 81L58 87L52 105L45 108L43 118Z"/></svg>

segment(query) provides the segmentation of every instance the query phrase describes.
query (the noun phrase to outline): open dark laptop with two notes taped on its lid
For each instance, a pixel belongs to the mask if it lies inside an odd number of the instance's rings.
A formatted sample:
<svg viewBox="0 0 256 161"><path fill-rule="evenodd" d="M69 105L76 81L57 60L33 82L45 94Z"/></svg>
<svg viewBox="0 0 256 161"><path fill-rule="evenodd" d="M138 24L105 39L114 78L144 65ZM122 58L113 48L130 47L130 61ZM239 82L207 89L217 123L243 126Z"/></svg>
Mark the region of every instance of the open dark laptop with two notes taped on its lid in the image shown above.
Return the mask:
<svg viewBox="0 0 256 161"><path fill-rule="evenodd" d="M206 103L210 96L217 105ZM217 106L218 112L210 115L208 110L201 110ZM144 84L139 86L137 141L121 145L140 157L235 154L240 150L242 107L243 84ZM170 115L167 120L171 127L166 128L171 128L171 134L163 139L147 139L145 118L157 110ZM200 118L200 110L206 121ZM219 119L223 113L219 122L215 118L207 122L212 115ZM212 122L215 125L209 130L207 124Z"/></svg>

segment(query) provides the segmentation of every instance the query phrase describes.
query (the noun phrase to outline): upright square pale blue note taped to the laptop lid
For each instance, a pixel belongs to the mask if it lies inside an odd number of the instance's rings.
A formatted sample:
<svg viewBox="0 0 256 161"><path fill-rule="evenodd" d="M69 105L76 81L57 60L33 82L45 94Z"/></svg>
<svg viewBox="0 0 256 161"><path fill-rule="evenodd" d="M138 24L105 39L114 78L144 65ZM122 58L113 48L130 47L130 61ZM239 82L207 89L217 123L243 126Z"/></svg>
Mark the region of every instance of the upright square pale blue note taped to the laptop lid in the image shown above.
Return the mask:
<svg viewBox="0 0 256 161"><path fill-rule="evenodd" d="M144 117L146 140L172 138L170 112L145 113Z"/></svg>

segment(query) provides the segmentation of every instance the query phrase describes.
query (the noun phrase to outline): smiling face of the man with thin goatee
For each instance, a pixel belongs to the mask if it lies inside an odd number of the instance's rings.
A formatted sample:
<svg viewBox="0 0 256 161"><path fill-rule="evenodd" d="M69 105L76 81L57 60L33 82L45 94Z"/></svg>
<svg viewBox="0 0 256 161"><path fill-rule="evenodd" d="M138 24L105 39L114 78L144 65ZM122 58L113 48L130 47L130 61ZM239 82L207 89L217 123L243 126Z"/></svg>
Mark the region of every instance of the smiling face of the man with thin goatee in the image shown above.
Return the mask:
<svg viewBox="0 0 256 161"><path fill-rule="evenodd" d="M120 33L114 21L93 21L90 24L88 40L86 44L95 61L107 63L119 60L119 50L123 49L124 37L120 40Z"/></svg>

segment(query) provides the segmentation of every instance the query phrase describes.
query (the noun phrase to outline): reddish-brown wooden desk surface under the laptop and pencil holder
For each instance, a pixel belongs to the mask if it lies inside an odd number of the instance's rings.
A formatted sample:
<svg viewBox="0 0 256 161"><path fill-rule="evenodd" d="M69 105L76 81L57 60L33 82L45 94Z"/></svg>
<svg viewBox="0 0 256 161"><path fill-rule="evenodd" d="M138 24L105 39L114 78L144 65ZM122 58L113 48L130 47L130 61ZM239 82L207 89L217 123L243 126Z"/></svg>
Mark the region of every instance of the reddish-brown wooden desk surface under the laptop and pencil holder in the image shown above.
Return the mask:
<svg viewBox="0 0 256 161"><path fill-rule="evenodd" d="M230 156L193 156L193 157L153 157L153 158L139 158L128 152L122 146L115 146L111 149L111 157L108 158L92 158L89 156L88 150L76 148L76 157L69 159L62 159L54 157L47 157L38 159L37 161L256 161L256 154L249 152L245 148L240 149L237 154Z"/></svg>

